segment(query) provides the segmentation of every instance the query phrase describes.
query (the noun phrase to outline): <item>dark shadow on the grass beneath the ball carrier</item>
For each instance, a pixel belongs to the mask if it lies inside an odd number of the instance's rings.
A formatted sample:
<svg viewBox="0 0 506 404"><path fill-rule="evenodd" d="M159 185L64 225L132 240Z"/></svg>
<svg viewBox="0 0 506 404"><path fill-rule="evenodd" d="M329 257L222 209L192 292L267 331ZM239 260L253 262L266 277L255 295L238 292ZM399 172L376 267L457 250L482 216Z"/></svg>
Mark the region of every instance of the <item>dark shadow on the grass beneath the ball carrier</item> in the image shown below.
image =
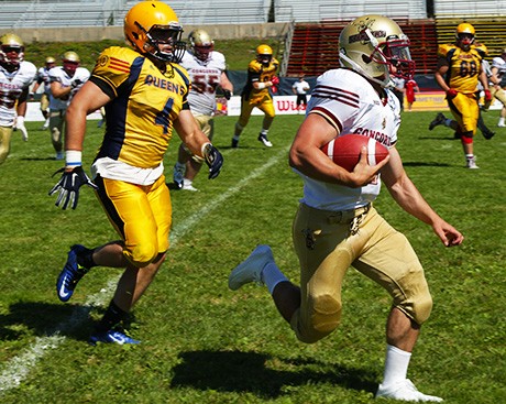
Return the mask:
<svg viewBox="0 0 506 404"><path fill-rule="evenodd" d="M346 389L375 392L377 374L307 359L272 358L268 354L240 351L191 351L179 354L170 387L193 387L221 392L249 392L262 398L275 398L286 385L332 383ZM276 367L268 368L273 360Z"/></svg>

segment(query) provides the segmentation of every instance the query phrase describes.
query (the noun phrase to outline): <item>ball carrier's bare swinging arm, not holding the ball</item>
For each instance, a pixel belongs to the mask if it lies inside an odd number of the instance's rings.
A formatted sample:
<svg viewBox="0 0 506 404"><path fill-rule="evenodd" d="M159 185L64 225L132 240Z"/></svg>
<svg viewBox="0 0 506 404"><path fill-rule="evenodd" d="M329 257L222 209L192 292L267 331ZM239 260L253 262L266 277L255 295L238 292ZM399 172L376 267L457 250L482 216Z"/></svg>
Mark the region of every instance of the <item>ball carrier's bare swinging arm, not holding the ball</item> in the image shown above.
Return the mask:
<svg viewBox="0 0 506 404"><path fill-rule="evenodd" d="M464 240L463 236L453 226L446 222L424 199L406 174L395 146L389 150L389 155L391 160L382 171L382 179L394 200L408 214L430 225L444 245L461 244Z"/></svg>

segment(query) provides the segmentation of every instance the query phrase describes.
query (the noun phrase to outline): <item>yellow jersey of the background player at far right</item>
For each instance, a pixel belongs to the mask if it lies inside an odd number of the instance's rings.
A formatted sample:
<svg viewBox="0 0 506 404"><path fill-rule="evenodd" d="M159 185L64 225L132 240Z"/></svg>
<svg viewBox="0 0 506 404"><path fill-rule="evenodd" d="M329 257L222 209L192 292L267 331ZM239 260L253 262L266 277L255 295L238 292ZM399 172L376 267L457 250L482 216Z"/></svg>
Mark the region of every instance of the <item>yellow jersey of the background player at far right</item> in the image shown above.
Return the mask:
<svg viewBox="0 0 506 404"><path fill-rule="evenodd" d="M457 45L446 44L439 46L438 53L449 64L450 68L444 81L450 88L459 89L464 94L475 92L482 72L482 61L487 53L485 45L471 45L469 52L465 52Z"/></svg>

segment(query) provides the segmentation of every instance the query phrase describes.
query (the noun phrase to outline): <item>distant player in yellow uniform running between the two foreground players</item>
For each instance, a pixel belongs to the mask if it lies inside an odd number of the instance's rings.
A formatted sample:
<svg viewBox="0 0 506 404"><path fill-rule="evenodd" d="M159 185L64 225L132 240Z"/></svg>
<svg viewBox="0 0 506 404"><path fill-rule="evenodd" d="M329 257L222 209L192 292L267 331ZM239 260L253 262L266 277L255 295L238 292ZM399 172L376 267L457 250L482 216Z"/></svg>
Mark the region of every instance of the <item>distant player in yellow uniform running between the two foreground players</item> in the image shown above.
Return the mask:
<svg viewBox="0 0 506 404"><path fill-rule="evenodd" d="M235 123L232 148L239 145L239 137L246 127L251 112L255 107L265 113L258 141L266 148L273 146L267 139L267 133L276 113L273 97L268 89L275 89L275 86L279 84L279 78L276 76L278 67L279 62L273 57L271 46L260 45L256 47L256 58L251 61L248 66L248 81L241 94L241 116Z"/></svg>

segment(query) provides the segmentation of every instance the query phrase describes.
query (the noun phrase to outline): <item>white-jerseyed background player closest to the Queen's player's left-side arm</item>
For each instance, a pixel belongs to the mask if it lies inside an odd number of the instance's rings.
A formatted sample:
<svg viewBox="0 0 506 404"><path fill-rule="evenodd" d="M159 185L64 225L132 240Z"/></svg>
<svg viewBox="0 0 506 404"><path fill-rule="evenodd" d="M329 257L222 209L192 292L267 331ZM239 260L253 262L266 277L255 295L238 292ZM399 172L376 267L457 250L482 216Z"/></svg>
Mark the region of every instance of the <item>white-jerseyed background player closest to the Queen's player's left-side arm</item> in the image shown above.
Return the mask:
<svg viewBox="0 0 506 404"><path fill-rule="evenodd" d="M56 160L63 160L63 142L65 112L74 95L89 79L90 73L86 67L79 67L80 58L75 52L65 52L62 57L63 66L50 70L50 128L51 140L56 152Z"/></svg>

